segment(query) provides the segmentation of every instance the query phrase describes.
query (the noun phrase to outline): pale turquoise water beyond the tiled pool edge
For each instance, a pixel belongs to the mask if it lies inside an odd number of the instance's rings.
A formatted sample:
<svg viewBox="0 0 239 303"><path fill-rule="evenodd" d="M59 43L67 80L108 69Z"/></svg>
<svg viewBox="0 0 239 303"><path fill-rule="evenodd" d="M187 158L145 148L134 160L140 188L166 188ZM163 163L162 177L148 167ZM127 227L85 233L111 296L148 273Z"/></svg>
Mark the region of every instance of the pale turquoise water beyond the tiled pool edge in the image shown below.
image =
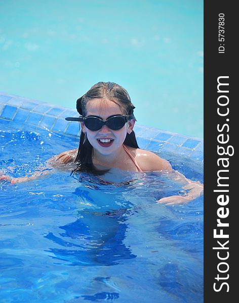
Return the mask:
<svg viewBox="0 0 239 303"><path fill-rule="evenodd" d="M1 91L75 108L113 81L139 124L203 137L203 1L1 0L0 12Z"/></svg>

